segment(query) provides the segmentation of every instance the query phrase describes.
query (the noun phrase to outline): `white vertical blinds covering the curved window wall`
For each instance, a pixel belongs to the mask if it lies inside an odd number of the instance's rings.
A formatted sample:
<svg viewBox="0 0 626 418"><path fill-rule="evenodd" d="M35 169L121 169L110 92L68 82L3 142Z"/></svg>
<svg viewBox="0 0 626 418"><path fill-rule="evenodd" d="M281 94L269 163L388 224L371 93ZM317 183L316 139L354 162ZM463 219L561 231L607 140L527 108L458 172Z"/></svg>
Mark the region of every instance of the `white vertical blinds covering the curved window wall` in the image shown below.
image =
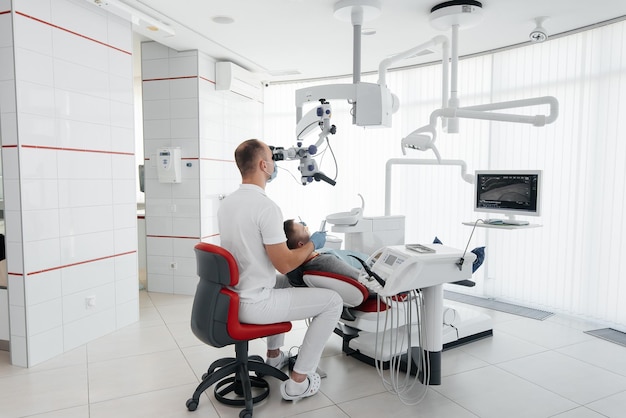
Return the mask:
<svg viewBox="0 0 626 418"><path fill-rule="evenodd" d="M626 330L626 23L624 21L541 44L462 59L461 106L554 96L559 117L537 128L515 123L461 119L458 134L439 129L444 159L477 169L543 170L540 228L477 229L470 249L486 246L486 261L472 289L454 289L529 307L548 309ZM363 76L375 82L374 76ZM265 138L295 145L295 90L351 79L276 84L265 91ZM385 164L402 158L400 140L429 121L441 106L441 65L394 71L388 87L400 99L391 128L352 125L350 106L333 101L337 134L318 158L337 185L299 184L297 162L279 163L268 193L286 218L317 225L329 213L360 206L365 216L384 214ZM307 109L305 108L305 111ZM514 110L547 114L541 106ZM305 140L314 143L317 134ZM324 147L322 147L324 148ZM333 158L334 156L334 158ZM405 158L435 158L407 150ZM335 167L336 161L336 167ZM294 178L295 177L295 178ZM464 221L481 216L472 206L473 186L458 167L394 166L391 213L406 216L406 242L465 248L472 232ZM341 237L341 234L337 234Z"/></svg>

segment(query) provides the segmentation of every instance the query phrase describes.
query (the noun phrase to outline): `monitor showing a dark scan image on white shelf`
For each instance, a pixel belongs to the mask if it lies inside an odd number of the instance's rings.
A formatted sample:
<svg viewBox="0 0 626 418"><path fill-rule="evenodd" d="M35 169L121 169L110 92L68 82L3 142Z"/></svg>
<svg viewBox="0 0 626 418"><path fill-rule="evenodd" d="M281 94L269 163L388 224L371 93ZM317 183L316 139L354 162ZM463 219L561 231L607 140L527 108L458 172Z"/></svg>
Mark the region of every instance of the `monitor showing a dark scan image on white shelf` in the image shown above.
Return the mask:
<svg viewBox="0 0 626 418"><path fill-rule="evenodd" d="M477 170L474 211L515 215L541 214L541 170Z"/></svg>

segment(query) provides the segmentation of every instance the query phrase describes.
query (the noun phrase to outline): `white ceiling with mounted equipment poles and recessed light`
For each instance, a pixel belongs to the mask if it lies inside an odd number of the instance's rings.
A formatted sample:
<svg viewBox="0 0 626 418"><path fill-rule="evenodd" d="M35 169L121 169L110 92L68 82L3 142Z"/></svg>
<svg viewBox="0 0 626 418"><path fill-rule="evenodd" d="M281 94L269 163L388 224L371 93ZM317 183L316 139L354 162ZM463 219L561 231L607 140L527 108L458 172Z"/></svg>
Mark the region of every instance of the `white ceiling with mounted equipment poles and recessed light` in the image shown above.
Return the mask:
<svg viewBox="0 0 626 418"><path fill-rule="evenodd" d="M385 58L437 35L451 37L450 30L435 29L430 23L431 8L441 3L436 0L378 0L380 14L362 24L363 30L373 30L375 34L358 37L361 58L356 61L352 23L333 15L337 0L122 2L174 29L174 36L154 38L162 44L177 50L197 49L218 60L232 61L270 82L351 76L355 62L360 63L361 73L375 72ZM481 3L480 23L460 26L461 57L530 42L529 34L536 26L537 17L546 17L543 27L552 38L626 17L624 0L483 0ZM233 22L216 23L215 17L228 17ZM440 59L440 54L431 53L395 63L392 68Z"/></svg>

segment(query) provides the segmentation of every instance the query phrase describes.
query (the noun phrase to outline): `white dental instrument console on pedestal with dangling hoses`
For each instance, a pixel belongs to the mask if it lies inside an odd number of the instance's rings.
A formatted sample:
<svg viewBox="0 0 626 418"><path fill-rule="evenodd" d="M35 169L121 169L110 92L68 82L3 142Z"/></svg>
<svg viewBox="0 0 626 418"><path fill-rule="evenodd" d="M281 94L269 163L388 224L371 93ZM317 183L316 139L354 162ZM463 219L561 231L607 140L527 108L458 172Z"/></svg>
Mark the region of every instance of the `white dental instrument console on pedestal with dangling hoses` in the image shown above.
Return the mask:
<svg viewBox="0 0 626 418"><path fill-rule="evenodd" d="M376 280L369 280L365 274L361 275L359 281L376 292L379 297L397 299L398 294L421 289L425 310L424 317L420 320L422 331L425 331L425 338L413 339L415 342L422 340L423 347L412 343L410 347L412 364L410 367L417 370L418 367L414 361L421 361L425 358L429 376L427 383L438 385L441 384L441 352L445 331L442 329L442 318L444 317L443 284L471 278L472 263L476 256L471 252L463 255L462 250L440 244L429 244L427 248L434 251L418 252L408 249L405 245L383 247L370 257L370 262L373 262L370 270L384 280L384 286L381 286ZM463 262L461 262L462 257L464 257ZM412 307L410 303L394 303L393 309L403 310L412 309ZM374 312L373 315L373 321L372 312L356 312L357 318L353 322L342 320L343 324L340 323L340 325L344 326L336 332L339 331L341 332L340 335L343 334L344 351L348 348L350 352L347 354L370 364L375 364L375 361L385 363L397 356L408 358L407 350L409 347L406 341L410 341L410 338L401 338L402 341L389 346L396 347L396 352L391 352L394 350L393 348L377 348L377 343L384 338L398 338L397 336L401 335L401 332L415 334L418 332L416 323L411 321L412 323L407 325L405 321L404 323L392 324L392 327L397 325L397 330L400 331L399 333L392 333L392 330L389 329L381 330L379 325L377 316L382 317L385 312L380 314ZM417 318L417 313L413 315L413 318Z"/></svg>

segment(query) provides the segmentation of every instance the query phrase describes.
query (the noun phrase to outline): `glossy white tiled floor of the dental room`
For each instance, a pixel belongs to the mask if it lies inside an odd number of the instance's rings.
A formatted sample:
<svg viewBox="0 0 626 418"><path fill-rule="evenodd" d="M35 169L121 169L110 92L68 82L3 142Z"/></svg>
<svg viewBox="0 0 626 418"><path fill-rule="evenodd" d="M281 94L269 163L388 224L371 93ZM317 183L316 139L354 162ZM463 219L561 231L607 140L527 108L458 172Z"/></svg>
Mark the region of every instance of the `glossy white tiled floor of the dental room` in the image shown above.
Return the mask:
<svg viewBox="0 0 626 418"><path fill-rule="evenodd" d="M237 417L216 402L212 389L195 412L187 411L200 376L232 348L210 348L189 329L192 297L141 291L138 323L24 369L0 352L0 417ZM447 302L447 305L453 305ZM283 401L271 395L254 416L276 417L560 417L626 416L626 348L588 336L594 324L555 315L545 321L489 312L494 336L443 353L442 384L414 388L401 400L388 392L376 369L341 352L329 340L321 368L321 393ZM287 348L304 324L294 324ZM263 341L251 352L263 354Z"/></svg>

